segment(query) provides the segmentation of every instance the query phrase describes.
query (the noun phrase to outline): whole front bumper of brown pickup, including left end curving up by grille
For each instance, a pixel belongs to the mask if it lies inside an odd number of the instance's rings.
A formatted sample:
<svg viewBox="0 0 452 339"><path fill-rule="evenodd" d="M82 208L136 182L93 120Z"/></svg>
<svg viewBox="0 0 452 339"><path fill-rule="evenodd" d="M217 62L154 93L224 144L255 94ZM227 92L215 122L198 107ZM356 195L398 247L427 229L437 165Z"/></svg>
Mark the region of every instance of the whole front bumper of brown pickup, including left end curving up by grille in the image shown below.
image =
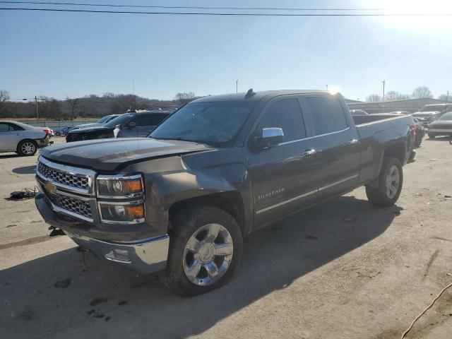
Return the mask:
<svg viewBox="0 0 452 339"><path fill-rule="evenodd" d="M107 242L94 239L87 236L87 232L83 232L83 235L74 232L81 222L70 221L70 218L54 212L41 192L37 194L35 203L45 222L64 230L76 244L101 261L115 263L143 274L163 270L167 265L169 249L167 234L133 242Z"/></svg>

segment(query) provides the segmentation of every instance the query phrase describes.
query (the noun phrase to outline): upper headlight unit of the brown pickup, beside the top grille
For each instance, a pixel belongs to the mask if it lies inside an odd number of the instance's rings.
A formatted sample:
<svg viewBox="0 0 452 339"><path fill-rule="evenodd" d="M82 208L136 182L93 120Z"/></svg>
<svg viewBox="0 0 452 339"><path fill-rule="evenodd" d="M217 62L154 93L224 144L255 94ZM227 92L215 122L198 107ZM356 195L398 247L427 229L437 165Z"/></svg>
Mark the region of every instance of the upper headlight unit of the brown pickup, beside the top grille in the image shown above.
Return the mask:
<svg viewBox="0 0 452 339"><path fill-rule="evenodd" d="M141 174L100 175L97 177L97 196L100 198L131 198L143 196Z"/></svg>

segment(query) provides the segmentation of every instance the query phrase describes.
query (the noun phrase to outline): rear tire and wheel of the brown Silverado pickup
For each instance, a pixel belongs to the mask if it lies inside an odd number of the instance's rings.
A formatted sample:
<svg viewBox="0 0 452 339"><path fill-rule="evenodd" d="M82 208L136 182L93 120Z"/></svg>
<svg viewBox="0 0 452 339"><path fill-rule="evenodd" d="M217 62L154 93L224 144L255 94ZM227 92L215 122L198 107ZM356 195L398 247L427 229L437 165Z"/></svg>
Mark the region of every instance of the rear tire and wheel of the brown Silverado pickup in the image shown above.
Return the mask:
<svg viewBox="0 0 452 339"><path fill-rule="evenodd" d="M389 179L392 177L393 180ZM379 174L377 187L366 186L369 201L376 206L393 206L403 186L403 168L395 157L385 157Z"/></svg>

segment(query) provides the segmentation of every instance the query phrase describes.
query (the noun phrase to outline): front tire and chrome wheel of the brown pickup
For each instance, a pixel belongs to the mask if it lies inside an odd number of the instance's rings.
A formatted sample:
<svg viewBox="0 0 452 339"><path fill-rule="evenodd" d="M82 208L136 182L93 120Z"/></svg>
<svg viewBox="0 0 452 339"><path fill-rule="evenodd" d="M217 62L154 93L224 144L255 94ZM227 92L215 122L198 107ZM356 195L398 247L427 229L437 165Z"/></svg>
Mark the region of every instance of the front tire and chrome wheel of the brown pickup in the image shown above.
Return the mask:
<svg viewBox="0 0 452 339"><path fill-rule="evenodd" d="M232 279L242 259L243 239L230 214L201 206L174 215L171 225L167 268L158 274L169 290L191 297L215 290Z"/></svg>

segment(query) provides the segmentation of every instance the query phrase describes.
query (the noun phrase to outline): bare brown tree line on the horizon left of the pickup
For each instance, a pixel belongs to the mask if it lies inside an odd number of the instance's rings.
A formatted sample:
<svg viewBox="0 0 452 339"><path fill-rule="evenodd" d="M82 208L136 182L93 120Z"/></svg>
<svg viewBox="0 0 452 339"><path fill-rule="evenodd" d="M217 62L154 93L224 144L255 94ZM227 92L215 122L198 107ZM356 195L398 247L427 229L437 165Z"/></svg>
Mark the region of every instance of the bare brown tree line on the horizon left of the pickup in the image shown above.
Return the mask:
<svg viewBox="0 0 452 339"><path fill-rule="evenodd" d="M11 101L7 90L0 90L0 118L36 118L40 120L75 120L79 118L98 118L108 114L121 114L135 109L176 109L196 99L193 92L177 93L174 100L157 100L133 94L104 93L84 97L39 96L26 101Z"/></svg>

